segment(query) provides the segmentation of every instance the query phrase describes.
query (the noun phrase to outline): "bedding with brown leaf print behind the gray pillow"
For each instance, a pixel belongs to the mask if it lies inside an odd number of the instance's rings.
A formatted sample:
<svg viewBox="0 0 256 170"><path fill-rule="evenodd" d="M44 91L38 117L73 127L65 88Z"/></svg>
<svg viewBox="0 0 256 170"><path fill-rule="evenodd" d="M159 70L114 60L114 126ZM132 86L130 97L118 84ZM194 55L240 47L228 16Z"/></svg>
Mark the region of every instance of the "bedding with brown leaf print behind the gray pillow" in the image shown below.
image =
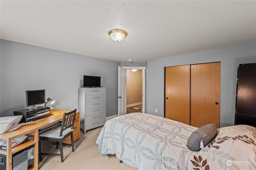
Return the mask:
<svg viewBox="0 0 256 170"><path fill-rule="evenodd" d="M256 128L235 125L218 129L211 143L192 154L188 169L256 170Z"/></svg>

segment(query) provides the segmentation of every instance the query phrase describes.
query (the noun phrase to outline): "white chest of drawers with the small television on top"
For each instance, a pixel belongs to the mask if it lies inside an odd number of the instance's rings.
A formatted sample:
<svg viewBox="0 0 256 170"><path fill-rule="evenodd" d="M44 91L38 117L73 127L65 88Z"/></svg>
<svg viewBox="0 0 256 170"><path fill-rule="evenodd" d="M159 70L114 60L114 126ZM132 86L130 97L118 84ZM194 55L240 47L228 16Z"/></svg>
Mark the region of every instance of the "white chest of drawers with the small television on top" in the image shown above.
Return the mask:
<svg viewBox="0 0 256 170"><path fill-rule="evenodd" d="M103 126L106 121L106 88L79 88L78 92L80 128L86 133Z"/></svg>

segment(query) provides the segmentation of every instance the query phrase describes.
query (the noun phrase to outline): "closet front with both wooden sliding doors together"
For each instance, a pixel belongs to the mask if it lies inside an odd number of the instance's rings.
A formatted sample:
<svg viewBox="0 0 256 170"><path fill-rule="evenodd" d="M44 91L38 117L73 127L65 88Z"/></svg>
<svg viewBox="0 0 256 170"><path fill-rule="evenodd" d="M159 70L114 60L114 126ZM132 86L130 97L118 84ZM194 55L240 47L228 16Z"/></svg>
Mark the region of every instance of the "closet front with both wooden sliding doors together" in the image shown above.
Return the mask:
<svg viewBox="0 0 256 170"><path fill-rule="evenodd" d="M165 67L165 117L220 126L220 62Z"/></svg>

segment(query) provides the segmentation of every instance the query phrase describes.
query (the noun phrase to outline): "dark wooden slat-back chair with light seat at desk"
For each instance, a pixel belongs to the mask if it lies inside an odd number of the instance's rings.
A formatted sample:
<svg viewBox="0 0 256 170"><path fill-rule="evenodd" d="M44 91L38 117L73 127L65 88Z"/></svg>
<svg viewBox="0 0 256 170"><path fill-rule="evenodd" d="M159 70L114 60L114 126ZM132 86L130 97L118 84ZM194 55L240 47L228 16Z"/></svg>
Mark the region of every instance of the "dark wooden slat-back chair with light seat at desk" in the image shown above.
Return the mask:
<svg viewBox="0 0 256 170"><path fill-rule="evenodd" d="M42 160L42 155L54 155L54 156L60 156L61 162L64 161L63 159L63 146L62 141L68 137L71 136L71 146L72 152L74 152L74 139L73 139L73 125L76 117L76 109L73 111L70 111L68 113L64 113L61 127L56 127L54 129L51 129L50 131L47 131L45 133L42 133L39 136L39 160ZM55 141L58 142L60 145L60 153L43 153L42 152L42 141Z"/></svg>

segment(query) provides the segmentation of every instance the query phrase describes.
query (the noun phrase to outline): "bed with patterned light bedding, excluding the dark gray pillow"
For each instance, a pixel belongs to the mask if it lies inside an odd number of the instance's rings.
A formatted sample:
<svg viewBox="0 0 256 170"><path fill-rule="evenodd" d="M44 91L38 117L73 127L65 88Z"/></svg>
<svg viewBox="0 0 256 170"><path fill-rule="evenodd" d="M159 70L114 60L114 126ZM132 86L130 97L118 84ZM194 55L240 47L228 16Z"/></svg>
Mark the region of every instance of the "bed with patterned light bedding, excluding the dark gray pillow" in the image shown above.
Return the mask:
<svg viewBox="0 0 256 170"><path fill-rule="evenodd" d="M116 157L139 170L256 169L256 128L235 125L217 129L200 151L187 147L198 128L146 113L106 121L96 143L102 156Z"/></svg>

